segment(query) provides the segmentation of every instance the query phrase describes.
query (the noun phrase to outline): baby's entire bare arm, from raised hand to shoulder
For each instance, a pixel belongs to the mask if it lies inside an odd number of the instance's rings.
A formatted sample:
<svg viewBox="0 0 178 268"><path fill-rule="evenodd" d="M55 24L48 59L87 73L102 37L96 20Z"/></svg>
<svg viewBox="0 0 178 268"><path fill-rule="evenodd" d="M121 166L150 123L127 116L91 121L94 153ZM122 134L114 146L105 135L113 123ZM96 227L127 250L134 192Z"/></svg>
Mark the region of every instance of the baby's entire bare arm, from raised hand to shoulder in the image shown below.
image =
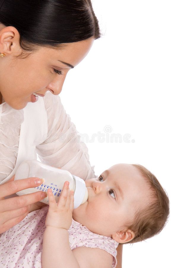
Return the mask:
<svg viewBox="0 0 178 268"><path fill-rule="evenodd" d="M65 182L58 203L51 189L47 190L49 208L43 235L43 268L108 268L112 266L113 257L108 252L97 248L70 248L68 230L72 223L74 193ZM99 251L98 251L99 250Z"/></svg>

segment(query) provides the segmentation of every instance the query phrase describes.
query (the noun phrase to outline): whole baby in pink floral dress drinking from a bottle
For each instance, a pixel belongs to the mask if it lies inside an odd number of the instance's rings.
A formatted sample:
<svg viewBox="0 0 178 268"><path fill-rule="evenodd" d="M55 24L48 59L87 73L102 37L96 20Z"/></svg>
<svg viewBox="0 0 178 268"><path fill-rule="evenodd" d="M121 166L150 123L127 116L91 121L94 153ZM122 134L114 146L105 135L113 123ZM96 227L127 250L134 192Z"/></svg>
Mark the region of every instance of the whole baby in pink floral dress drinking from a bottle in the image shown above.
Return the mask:
<svg viewBox="0 0 178 268"><path fill-rule="evenodd" d="M1 234L0 267L115 268L119 243L150 238L167 222L167 194L141 165L116 164L85 180L88 200L75 209L66 183L58 203L48 189L49 206L32 204Z"/></svg>

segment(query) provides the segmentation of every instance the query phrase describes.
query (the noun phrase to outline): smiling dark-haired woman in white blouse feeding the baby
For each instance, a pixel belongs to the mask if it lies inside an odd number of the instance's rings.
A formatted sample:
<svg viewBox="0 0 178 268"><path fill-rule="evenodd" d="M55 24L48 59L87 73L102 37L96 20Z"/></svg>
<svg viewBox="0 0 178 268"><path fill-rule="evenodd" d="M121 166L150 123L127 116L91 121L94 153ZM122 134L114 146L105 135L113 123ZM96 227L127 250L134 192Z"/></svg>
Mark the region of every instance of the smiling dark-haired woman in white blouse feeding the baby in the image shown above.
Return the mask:
<svg viewBox="0 0 178 268"><path fill-rule="evenodd" d="M38 154L42 162L84 180L96 176L85 144L57 138L62 133L77 136L77 130L54 95L100 36L90 0L0 1L0 233L44 198L40 191L9 198L36 186L38 178L13 181L23 160ZM121 267L122 246L117 253Z"/></svg>

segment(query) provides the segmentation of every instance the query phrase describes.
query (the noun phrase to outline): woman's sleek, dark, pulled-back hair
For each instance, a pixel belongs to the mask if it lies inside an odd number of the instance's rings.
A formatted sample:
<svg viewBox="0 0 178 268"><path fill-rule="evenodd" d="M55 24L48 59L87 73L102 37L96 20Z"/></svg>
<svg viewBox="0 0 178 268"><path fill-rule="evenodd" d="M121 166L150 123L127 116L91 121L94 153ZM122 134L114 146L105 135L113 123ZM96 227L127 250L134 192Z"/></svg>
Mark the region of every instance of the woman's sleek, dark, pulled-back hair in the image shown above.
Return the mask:
<svg viewBox="0 0 178 268"><path fill-rule="evenodd" d="M66 43L101 37L91 0L4 0L1 4L0 23L18 30L21 58L39 46L62 49Z"/></svg>

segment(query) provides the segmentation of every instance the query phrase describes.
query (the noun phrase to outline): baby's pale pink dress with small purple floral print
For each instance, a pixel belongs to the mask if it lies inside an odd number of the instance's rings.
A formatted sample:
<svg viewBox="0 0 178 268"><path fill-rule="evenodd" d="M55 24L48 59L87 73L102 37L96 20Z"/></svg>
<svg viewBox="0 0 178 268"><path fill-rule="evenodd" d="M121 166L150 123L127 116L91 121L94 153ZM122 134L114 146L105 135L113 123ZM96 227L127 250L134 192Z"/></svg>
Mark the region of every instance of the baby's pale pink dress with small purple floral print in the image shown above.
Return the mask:
<svg viewBox="0 0 178 268"><path fill-rule="evenodd" d="M25 219L0 234L0 267L42 268L42 245L48 206L30 212ZM113 256L112 268L117 265L118 243L111 237L92 233L72 219L68 230L71 250L92 247L106 250ZM60 239L60 238L59 238Z"/></svg>

